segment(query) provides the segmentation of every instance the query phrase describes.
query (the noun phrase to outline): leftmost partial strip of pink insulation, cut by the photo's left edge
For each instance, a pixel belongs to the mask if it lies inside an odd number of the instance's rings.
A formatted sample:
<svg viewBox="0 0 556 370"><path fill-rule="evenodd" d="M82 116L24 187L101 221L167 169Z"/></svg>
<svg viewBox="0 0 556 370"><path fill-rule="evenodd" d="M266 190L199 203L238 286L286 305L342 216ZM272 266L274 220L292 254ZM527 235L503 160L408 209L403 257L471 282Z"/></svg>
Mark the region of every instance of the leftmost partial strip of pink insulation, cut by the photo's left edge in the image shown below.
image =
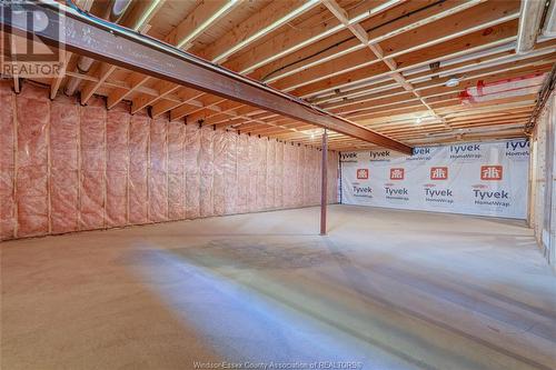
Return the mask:
<svg viewBox="0 0 556 370"><path fill-rule="evenodd" d="M14 97L8 83L0 82L0 240L11 239L16 231L14 202Z"/></svg>

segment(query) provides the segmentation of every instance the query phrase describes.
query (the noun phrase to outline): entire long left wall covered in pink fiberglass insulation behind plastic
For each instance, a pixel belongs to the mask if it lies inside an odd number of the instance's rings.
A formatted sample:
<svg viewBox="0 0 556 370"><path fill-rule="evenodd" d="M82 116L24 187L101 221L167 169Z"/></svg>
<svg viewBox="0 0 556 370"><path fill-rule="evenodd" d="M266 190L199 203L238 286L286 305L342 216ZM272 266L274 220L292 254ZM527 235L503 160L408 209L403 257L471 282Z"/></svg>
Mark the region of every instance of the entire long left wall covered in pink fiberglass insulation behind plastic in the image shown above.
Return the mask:
<svg viewBox="0 0 556 370"><path fill-rule="evenodd" d="M0 239L318 204L321 151L0 83ZM328 161L337 202L338 153Z"/></svg>

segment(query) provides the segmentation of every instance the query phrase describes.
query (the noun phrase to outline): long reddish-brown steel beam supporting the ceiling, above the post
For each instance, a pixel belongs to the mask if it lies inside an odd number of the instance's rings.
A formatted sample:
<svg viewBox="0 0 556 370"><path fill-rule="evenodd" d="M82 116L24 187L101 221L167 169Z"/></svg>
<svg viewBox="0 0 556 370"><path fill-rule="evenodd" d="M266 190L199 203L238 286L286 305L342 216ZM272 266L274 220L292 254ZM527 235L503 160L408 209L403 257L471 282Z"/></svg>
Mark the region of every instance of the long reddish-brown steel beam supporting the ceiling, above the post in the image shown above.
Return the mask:
<svg viewBox="0 0 556 370"><path fill-rule="evenodd" d="M279 93L193 56L179 52L163 43L155 42L125 29L97 23L66 6L33 3L30 7L44 13L52 24L58 23L60 32L64 34L64 38L60 40L58 31L53 27L37 32L47 43L57 44L61 42L72 52L79 52L110 64L256 106L396 151L411 153L411 148L401 142L377 134L367 128L339 117L318 111L294 97ZM67 14L63 23L59 23L57 20L60 10L63 10ZM2 19L1 21L4 23L8 20ZM20 23L21 20L16 19L10 22L14 30L19 29L23 32L27 30L27 24ZM82 34L88 37L83 38ZM90 39L95 39L96 42L88 42Z"/></svg>

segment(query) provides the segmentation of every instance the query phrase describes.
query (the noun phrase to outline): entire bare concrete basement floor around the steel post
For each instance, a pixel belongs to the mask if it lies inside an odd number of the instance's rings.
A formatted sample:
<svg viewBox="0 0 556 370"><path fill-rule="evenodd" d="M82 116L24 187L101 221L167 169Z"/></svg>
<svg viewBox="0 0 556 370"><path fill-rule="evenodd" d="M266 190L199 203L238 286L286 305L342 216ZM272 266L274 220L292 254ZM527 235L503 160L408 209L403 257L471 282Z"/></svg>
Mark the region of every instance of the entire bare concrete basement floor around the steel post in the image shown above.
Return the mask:
<svg viewBox="0 0 556 370"><path fill-rule="evenodd" d="M556 277L523 222L329 219L326 238L306 208L4 242L1 369L556 368Z"/></svg>

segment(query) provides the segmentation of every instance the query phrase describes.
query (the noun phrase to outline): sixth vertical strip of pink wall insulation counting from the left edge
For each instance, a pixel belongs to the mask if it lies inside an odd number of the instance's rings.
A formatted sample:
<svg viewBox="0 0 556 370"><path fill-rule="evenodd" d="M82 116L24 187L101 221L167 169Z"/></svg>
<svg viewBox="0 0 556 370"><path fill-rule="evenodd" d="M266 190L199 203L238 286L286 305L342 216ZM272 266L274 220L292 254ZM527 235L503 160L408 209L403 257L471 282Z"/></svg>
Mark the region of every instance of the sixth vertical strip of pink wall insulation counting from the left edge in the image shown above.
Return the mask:
<svg viewBox="0 0 556 370"><path fill-rule="evenodd" d="M148 144L150 119L143 113L131 117L129 122L129 223L149 221Z"/></svg>

